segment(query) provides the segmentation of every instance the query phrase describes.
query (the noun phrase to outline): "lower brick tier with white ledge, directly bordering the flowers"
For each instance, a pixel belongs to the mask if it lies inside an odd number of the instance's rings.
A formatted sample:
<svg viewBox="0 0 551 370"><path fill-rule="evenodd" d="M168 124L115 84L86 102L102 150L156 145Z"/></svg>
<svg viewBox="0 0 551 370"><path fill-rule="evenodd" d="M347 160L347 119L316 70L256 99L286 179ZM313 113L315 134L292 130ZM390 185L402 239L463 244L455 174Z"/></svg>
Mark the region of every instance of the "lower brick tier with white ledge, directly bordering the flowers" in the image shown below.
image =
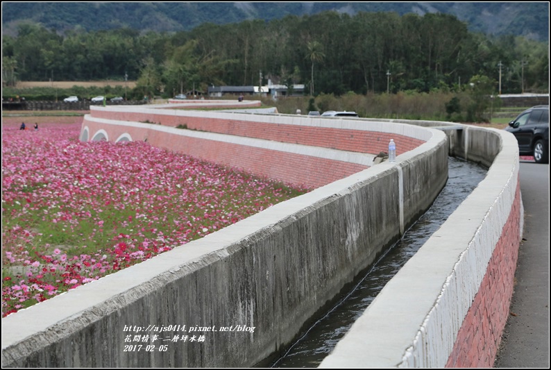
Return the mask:
<svg viewBox="0 0 551 370"><path fill-rule="evenodd" d="M83 132L109 131L109 137L132 137L195 158L239 167L284 183L319 187L373 165L374 155L312 148L245 137L180 130L161 125L88 117ZM99 128L103 127L103 128ZM104 130L103 130L104 131ZM104 137L105 134L100 135ZM96 136L94 136L96 137ZM290 165L292 164L292 165Z"/></svg>

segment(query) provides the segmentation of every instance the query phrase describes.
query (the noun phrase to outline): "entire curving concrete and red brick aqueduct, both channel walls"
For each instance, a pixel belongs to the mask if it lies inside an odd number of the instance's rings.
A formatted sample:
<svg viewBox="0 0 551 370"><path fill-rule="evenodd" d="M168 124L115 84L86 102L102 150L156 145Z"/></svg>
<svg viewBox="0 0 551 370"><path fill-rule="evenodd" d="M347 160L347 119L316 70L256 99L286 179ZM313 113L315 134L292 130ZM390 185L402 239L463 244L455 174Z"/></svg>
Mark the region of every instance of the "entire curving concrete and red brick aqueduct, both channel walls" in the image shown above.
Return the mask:
<svg viewBox="0 0 551 370"><path fill-rule="evenodd" d="M80 139L146 140L316 189L2 319L4 367L262 363L430 207L448 155L482 163L488 176L321 367L492 366L523 230L512 135L445 122L176 109L189 104L91 107ZM376 164L391 138L396 162Z"/></svg>

